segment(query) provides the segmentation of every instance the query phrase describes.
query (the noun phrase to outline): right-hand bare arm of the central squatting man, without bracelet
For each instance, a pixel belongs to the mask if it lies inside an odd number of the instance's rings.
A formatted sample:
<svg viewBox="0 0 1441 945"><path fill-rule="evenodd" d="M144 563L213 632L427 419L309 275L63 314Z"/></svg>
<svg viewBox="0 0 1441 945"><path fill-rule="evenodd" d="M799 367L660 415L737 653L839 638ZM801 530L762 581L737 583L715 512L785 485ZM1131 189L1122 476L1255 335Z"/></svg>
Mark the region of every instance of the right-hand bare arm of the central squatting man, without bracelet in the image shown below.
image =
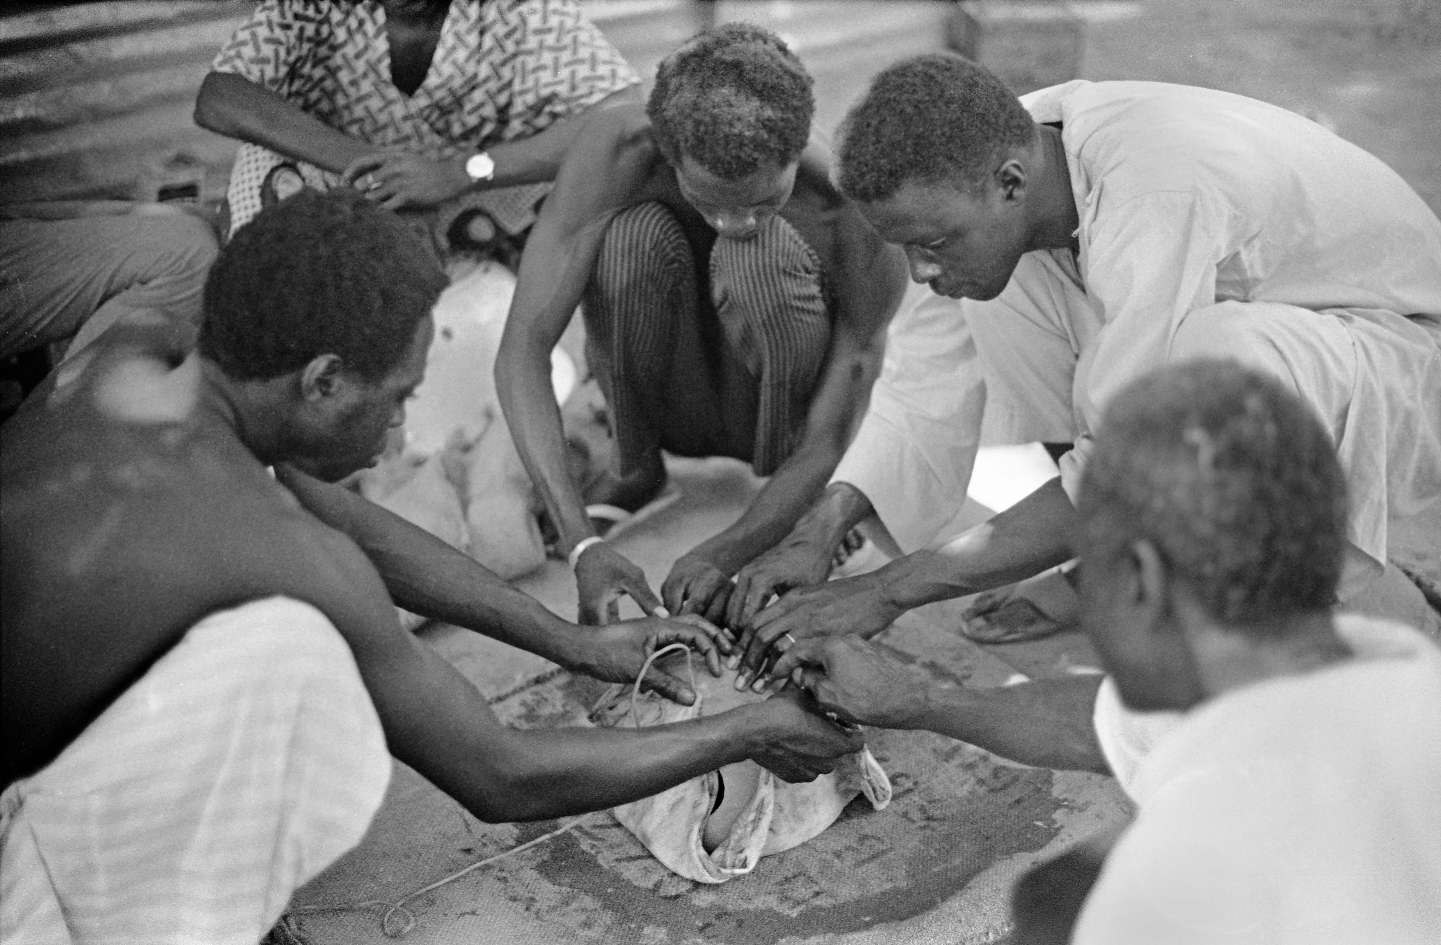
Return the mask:
<svg viewBox="0 0 1441 945"><path fill-rule="evenodd" d="M823 167L803 161L803 180L824 182ZM833 275L839 310L806 434L731 527L676 562L661 588L672 612L703 614L710 621L726 617L731 575L787 536L826 485L865 412L870 385L880 372L886 324L905 294L906 268L901 251L886 245L855 206L840 202L839 194L834 199L837 206L829 213L829 226L836 236ZM729 608L729 612L745 611Z"/></svg>

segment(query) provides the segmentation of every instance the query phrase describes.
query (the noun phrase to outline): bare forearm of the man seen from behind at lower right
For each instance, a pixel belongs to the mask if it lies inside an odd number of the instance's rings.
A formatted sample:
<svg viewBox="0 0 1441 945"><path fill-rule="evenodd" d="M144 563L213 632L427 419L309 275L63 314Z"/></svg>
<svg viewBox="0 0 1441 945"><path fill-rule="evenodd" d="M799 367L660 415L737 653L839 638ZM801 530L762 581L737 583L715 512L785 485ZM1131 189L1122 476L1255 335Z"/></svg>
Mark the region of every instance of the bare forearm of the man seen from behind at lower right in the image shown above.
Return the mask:
<svg viewBox="0 0 1441 945"><path fill-rule="evenodd" d="M1101 676L997 689L929 689L906 726L968 742L1036 768L1110 774L1091 716Z"/></svg>

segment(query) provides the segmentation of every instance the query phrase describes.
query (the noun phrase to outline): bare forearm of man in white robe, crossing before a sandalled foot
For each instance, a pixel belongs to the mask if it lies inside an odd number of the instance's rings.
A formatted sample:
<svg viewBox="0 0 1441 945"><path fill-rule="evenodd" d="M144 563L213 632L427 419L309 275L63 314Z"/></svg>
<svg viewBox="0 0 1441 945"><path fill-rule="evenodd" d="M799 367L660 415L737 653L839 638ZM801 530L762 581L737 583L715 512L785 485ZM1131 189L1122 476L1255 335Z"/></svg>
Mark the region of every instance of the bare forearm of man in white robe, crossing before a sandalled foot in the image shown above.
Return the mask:
<svg viewBox="0 0 1441 945"><path fill-rule="evenodd" d="M896 559L875 581L901 609L1023 581L1072 557L1075 507L1053 478L945 547Z"/></svg>

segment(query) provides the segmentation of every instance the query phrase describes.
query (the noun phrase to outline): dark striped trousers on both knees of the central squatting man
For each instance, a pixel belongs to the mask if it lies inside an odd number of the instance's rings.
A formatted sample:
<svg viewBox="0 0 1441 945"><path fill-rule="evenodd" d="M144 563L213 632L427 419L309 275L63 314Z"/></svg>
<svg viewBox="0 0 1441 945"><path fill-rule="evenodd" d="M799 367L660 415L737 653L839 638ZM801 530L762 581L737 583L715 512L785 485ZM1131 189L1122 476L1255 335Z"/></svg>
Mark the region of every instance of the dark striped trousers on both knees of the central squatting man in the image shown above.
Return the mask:
<svg viewBox="0 0 1441 945"><path fill-rule="evenodd" d="M582 313L620 468L659 447L774 472L804 432L834 311L820 256L780 216L705 248L660 203L618 213Z"/></svg>

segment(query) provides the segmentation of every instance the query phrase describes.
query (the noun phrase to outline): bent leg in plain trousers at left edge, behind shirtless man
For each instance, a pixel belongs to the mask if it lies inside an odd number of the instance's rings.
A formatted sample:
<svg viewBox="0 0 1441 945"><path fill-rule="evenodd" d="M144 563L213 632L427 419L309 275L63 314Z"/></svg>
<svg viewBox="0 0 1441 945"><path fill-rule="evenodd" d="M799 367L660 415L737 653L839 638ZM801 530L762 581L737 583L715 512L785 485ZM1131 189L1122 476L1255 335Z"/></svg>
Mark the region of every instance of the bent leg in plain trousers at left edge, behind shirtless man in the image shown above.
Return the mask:
<svg viewBox="0 0 1441 945"><path fill-rule="evenodd" d="M199 327L216 252L210 228L171 207L0 223L0 357L71 336L73 354L146 308Z"/></svg>

